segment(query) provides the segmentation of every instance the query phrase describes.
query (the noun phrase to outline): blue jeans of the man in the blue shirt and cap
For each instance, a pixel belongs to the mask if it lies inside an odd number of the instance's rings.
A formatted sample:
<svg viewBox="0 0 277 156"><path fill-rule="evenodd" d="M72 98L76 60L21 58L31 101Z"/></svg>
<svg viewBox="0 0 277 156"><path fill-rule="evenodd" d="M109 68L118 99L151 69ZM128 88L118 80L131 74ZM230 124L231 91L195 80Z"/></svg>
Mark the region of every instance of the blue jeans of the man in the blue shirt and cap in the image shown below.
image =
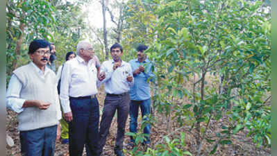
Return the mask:
<svg viewBox="0 0 277 156"><path fill-rule="evenodd" d="M137 116L138 111L140 110L142 112L142 118L143 116L148 116L150 114L151 110L151 99L146 99L144 101L131 101L130 103L130 132L136 133L137 132ZM149 118L146 118L146 120L149 120ZM150 129L151 125L149 123L146 124L143 132L144 134L150 135ZM131 137L131 141L135 142L133 137ZM146 140L144 140L144 144L150 143L150 137L146 137Z"/></svg>

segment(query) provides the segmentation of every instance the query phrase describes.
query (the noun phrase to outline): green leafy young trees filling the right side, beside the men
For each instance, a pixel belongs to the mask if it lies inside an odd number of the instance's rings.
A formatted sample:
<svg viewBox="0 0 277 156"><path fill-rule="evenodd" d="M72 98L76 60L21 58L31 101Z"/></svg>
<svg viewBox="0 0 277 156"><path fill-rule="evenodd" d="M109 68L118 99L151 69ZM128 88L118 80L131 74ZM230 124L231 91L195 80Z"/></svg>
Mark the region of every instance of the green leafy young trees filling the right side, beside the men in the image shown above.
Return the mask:
<svg viewBox="0 0 277 156"><path fill-rule="evenodd" d="M217 150L212 140L231 144L228 137L244 128L257 146L270 146L271 107L264 103L271 94L267 2L136 0L128 1L127 10L130 28L123 38L128 45L150 46L146 53L157 70L158 112L174 111L181 126L191 125L198 148L210 121L228 114L223 135L205 137L212 153Z"/></svg>

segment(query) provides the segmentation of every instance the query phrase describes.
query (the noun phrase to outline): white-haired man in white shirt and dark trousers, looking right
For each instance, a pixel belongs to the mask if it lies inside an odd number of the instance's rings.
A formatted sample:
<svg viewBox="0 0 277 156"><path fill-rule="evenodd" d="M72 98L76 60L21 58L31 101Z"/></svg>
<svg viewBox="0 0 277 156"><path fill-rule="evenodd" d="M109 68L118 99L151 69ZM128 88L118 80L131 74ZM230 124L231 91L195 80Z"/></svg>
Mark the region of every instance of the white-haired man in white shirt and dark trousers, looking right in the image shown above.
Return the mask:
<svg viewBox="0 0 277 156"><path fill-rule="evenodd" d="M60 102L69 122L69 155L81 156L84 144L87 155L97 155L99 104L94 50L89 42L81 41L76 51L76 58L65 62L60 83Z"/></svg>

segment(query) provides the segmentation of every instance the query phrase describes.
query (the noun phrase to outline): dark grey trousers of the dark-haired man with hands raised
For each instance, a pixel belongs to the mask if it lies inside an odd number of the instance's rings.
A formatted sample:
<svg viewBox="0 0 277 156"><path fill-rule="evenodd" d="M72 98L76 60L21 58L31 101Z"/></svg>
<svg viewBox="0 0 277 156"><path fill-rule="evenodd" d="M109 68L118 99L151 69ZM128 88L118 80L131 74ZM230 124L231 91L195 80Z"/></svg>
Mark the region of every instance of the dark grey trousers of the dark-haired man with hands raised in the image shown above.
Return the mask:
<svg viewBox="0 0 277 156"><path fill-rule="evenodd" d="M123 96L106 96L99 131L99 153L102 153L103 147L106 144L106 138L110 131L110 124L112 123L112 118L115 115L115 110L117 110L117 139L115 142L115 150L123 149L125 125L129 112L129 103L130 97L128 93L124 94Z"/></svg>

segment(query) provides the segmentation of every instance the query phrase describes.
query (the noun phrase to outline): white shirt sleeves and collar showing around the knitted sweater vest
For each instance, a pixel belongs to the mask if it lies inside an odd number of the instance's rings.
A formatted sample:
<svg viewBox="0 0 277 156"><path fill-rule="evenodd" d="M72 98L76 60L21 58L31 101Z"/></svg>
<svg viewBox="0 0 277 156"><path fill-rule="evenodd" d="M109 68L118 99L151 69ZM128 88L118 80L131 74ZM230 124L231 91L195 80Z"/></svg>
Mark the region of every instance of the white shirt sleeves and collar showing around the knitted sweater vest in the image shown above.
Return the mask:
<svg viewBox="0 0 277 156"><path fill-rule="evenodd" d="M45 78L45 75L51 70L48 67L45 67L44 73L33 63L31 64L35 67L35 70L39 73L41 78ZM10 82L8 84L8 90L6 93L6 105L7 107L15 111L17 113L20 113L24 111L23 104L28 99L20 98L20 92L22 90L22 83L19 81L17 76L15 74L12 74L10 78ZM62 119L62 112L60 111L60 101L58 98L58 90L54 90L53 92L56 92L56 106L57 106L57 112L58 112L58 120Z"/></svg>

